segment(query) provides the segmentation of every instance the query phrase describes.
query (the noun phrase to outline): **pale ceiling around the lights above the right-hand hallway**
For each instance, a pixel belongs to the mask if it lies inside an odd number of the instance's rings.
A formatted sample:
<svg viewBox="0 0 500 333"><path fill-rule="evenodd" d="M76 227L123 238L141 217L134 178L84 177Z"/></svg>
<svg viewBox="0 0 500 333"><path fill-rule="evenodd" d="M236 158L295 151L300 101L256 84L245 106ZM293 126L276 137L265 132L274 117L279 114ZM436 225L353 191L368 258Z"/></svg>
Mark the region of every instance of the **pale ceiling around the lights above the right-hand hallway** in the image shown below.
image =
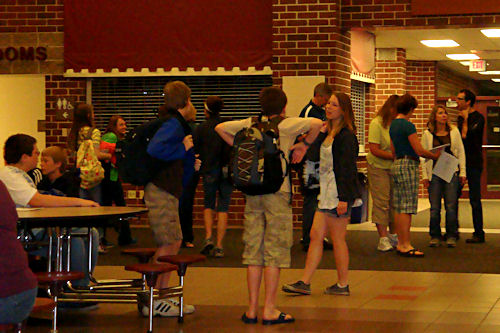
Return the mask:
<svg viewBox="0 0 500 333"><path fill-rule="evenodd" d="M406 59L408 60L435 60L440 66L474 80L490 81L492 78L500 78L500 75L481 75L477 72L469 72L469 67L446 57L446 54L449 53L471 53L471 50L475 50L481 59L487 61L486 70L500 70L500 38L488 38L481 33L480 28L384 29L377 30L374 34L377 48L406 49ZM420 43L421 40L425 39L452 39L460 46L427 47Z"/></svg>

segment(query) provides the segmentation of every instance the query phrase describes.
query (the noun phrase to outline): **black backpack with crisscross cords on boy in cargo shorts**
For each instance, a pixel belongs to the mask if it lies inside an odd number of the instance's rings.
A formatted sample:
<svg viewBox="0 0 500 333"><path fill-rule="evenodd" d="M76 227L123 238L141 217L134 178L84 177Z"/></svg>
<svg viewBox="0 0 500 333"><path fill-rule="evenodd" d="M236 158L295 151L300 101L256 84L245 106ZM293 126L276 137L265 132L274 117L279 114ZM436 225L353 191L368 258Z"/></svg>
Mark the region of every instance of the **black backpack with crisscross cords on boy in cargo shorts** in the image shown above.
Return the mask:
<svg viewBox="0 0 500 333"><path fill-rule="evenodd" d="M261 116L252 117L252 125L241 129L234 136L230 177L233 185L248 195L275 193L281 188L288 174L283 173L282 157L279 149L278 124L282 117L262 121Z"/></svg>

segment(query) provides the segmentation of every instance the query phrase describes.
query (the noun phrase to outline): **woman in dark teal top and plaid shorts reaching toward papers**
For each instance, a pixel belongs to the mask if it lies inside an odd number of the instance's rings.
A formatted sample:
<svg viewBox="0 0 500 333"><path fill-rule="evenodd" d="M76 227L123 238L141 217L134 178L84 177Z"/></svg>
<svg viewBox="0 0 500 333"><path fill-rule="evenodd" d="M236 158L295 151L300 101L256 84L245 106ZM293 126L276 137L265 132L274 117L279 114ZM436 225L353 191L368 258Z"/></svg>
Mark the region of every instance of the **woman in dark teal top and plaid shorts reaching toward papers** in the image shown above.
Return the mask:
<svg viewBox="0 0 500 333"><path fill-rule="evenodd" d="M437 160L441 150L424 149L417 136L415 125L410 122L418 103L410 94L396 102L397 116L389 129L391 148L395 161L391 166L394 181L394 222L398 234L397 253L404 257L423 257L424 253L410 243L411 215L417 213L419 156Z"/></svg>

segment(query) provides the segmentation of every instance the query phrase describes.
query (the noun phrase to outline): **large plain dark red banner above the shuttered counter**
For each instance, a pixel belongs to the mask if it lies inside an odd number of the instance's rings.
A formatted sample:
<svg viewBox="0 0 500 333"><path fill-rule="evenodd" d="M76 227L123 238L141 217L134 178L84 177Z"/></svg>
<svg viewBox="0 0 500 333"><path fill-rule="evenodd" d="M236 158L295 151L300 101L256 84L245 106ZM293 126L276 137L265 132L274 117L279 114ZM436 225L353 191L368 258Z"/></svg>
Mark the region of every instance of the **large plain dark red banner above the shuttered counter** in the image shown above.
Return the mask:
<svg viewBox="0 0 500 333"><path fill-rule="evenodd" d="M65 69L262 69L272 0L65 0Z"/></svg>

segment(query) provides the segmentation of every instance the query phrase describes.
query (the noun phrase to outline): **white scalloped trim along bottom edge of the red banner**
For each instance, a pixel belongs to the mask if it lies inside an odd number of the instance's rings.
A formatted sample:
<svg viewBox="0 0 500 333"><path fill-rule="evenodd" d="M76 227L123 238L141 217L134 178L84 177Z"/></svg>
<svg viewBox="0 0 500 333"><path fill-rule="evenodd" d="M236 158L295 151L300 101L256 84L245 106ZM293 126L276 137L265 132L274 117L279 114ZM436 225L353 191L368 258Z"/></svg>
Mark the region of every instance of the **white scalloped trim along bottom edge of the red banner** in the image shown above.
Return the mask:
<svg viewBox="0 0 500 333"><path fill-rule="evenodd" d="M88 69L82 69L80 72L75 72L72 69L66 70L65 77L131 77L131 76L241 76L241 75L272 75L271 67L266 66L261 70L255 67L248 67L246 70L240 70L239 67L233 67L231 70L226 70L224 67L218 67L217 70L210 70L208 67L203 67L199 71L188 67L186 70L179 70L173 67L169 71L163 68L157 68L155 71L149 71L148 68L142 68L140 71L134 71L133 68L127 68L126 71L120 72L118 68L113 68L110 72L105 72L102 68L95 72L89 72Z"/></svg>

